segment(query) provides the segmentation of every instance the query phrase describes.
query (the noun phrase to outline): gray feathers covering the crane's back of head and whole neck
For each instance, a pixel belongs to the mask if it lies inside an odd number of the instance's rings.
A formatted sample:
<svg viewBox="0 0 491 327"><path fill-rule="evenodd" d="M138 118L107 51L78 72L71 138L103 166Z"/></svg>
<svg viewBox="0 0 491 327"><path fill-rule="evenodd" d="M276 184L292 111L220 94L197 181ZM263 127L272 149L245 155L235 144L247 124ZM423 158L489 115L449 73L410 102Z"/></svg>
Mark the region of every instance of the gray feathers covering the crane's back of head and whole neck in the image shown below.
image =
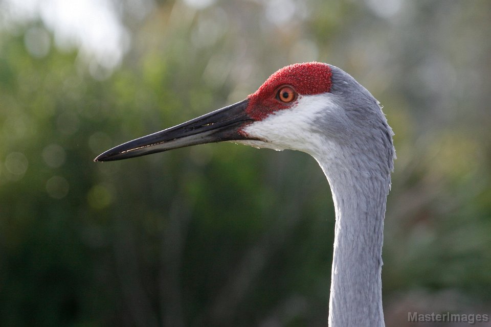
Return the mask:
<svg viewBox="0 0 491 327"><path fill-rule="evenodd" d="M378 102L351 76L331 66L329 108L316 128L325 148L312 153L323 169L336 208L329 326L384 326L382 244L392 130Z"/></svg>

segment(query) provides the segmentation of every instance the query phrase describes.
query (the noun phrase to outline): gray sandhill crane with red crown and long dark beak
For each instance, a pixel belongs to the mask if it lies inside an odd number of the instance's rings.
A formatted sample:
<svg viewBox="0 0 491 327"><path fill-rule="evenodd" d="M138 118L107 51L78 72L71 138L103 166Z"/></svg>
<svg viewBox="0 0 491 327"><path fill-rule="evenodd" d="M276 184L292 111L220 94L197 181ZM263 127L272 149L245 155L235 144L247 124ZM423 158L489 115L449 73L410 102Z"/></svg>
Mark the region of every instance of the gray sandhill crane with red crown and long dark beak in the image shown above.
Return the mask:
<svg viewBox="0 0 491 327"><path fill-rule="evenodd" d="M377 100L340 68L279 69L245 100L99 155L110 161L232 141L306 152L329 181L336 210L328 323L384 326L382 243L395 150Z"/></svg>

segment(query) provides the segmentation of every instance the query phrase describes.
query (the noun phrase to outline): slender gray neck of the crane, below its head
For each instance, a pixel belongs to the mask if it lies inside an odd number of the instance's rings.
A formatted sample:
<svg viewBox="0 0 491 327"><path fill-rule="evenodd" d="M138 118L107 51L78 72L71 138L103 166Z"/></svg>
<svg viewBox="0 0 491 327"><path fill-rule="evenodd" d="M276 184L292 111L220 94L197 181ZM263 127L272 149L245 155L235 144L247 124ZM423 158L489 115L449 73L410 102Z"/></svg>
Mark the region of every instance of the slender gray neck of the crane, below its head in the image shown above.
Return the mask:
<svg viewBox="0 0 491 327"><path fill-rule="evenodd" d="M384 326L382 244L390 173L317 161L336 208L329 326Z"/></svg>

